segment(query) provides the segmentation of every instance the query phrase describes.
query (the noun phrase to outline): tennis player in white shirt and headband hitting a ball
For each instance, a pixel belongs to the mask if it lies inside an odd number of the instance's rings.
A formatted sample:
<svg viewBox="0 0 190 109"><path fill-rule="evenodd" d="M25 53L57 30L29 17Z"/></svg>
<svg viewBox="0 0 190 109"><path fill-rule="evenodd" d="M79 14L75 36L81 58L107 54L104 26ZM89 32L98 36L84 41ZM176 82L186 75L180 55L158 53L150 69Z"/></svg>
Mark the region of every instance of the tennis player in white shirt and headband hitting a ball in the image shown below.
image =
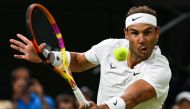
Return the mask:
<svg viewBox="0 0 190 109"><path fill-rule="evenodd" d="M71 70L81 72L100 64L98 106L91 102L91 109L161 109L168 94L171 71L168 60L156 46L160 35L156 12L147 6L131 8L124 32L125 39L107 39L85 53L67 53ZM13 49L24 53L15 57L41 62L36 54L29 52L34 51L31 42L20 34L18 37L26 44L10 40ZM113 56L114 49L120 46L129 49L127 61L118 62Z"/></svg>

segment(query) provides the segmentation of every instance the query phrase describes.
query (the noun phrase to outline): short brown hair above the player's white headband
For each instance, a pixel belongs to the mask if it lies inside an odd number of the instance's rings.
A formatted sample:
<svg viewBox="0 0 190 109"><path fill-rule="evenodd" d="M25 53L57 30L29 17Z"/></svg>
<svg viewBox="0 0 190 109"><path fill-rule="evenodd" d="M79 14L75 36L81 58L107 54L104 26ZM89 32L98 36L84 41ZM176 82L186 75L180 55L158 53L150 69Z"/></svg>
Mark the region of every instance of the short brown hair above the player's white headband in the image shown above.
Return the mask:
<svg viewBox="0 0 190 109"><path fill-rule="evenodd" d="M129 9L127 16L130 16L130 15L135 14L135 13L148 13L148 14L151 14L151 15L157 17L156 11L151 9L148 6L132 7Z"/></svg>

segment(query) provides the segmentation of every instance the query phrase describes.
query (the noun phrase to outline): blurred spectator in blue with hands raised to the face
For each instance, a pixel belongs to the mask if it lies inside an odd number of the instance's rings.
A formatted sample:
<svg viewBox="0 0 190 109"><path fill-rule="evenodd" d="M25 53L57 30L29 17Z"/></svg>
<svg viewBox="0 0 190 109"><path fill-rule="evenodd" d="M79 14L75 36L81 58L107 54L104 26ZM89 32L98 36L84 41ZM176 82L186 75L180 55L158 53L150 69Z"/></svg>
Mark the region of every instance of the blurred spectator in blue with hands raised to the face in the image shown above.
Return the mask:
<svg viewBox="0 0 190 109"><path fill-rule="evenodd" d="M44 96L37 80L30 79L29 70L19 67L12 72L13 103L16 109L54 109L54 102Z"/></svg>

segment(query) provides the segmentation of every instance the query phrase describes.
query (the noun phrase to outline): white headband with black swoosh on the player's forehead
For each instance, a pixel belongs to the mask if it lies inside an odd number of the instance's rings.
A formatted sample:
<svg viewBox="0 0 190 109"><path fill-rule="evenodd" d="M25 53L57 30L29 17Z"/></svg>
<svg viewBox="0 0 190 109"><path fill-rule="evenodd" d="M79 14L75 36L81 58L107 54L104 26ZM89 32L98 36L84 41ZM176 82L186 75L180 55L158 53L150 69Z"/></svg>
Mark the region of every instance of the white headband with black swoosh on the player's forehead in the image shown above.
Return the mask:
<svg viewBox="0 0 190 109"><path fill-rule="evenodd" d="M155 27L157 26L157 20L155 16L151 14L146 14L146 13L136 13L126 18L125 28L136 23L145 23L145 24L150 24Z"/></svg>

